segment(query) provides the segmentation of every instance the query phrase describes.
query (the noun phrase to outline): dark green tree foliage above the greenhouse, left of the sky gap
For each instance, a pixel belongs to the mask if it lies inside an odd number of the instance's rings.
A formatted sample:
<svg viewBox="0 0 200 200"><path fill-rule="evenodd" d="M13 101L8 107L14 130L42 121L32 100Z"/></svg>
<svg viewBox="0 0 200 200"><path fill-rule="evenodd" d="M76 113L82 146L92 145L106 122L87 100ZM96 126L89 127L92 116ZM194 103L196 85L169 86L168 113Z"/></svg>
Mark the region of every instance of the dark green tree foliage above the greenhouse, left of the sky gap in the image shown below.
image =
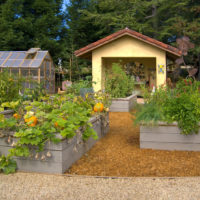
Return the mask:
<svg viewBox="0 0 200 200"><path fill-rule="evenodd" d="M49 50L57 63L63 50L61 5L62 0L1 1L1 50L40 47Z"/></svg>

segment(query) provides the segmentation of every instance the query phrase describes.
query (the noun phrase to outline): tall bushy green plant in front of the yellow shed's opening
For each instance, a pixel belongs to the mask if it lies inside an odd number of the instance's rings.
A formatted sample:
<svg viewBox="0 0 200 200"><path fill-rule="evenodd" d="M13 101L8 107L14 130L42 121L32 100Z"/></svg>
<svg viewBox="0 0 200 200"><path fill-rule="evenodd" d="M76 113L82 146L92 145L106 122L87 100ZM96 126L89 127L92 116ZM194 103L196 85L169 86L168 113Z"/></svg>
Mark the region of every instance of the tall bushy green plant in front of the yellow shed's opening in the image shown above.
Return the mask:
<svg viewBox="0 0 200 200"><path fill-rule="evenodd" d="M105 90L112 98L123 98L132 94L134 80L126 75L118 63L113 63L112 70L107 71Z"/></svg>

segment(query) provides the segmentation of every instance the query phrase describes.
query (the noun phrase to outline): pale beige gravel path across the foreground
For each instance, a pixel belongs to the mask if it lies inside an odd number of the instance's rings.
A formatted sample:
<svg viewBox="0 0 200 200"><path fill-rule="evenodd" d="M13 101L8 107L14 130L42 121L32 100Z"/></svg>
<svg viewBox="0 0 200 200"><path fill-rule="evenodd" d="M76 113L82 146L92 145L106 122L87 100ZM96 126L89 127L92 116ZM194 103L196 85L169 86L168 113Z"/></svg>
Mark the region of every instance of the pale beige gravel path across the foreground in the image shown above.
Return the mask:
<svg viewBox="0 0 200 200"><path fill-rule="evenodd" d="M93 178L0 174L0 200L199 200L196 178Z"/></svg>

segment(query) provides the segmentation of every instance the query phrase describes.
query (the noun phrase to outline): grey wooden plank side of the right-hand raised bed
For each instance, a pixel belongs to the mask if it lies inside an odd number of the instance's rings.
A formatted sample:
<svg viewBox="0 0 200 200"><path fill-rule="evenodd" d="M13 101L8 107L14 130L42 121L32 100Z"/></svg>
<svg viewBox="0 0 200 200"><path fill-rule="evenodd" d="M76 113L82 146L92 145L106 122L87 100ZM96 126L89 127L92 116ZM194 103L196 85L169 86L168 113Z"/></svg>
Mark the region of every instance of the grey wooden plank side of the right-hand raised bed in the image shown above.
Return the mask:
<svg viewBox="0 0 200 200"><path fill-rule="evenodd" d="M198 134L182 135L177 123L160 122L158 126L140 126L140 148L159 150L200 151Z"/></svg>

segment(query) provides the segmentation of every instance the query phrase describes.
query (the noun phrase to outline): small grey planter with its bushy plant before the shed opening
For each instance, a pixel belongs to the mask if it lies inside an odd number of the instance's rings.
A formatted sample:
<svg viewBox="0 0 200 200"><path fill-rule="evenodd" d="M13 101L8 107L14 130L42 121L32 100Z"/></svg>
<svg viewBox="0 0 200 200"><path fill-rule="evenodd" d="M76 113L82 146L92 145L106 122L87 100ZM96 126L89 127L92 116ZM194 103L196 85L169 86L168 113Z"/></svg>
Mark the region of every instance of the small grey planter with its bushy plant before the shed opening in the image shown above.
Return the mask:
<svg viewBox="0 0 200 200"><path fill-rule="evenodd" d="M126 75L118 63L113 63L111 71L106 73L105 91L112 98L111 112L129 112L137 99L134 80Z"/></svg>

